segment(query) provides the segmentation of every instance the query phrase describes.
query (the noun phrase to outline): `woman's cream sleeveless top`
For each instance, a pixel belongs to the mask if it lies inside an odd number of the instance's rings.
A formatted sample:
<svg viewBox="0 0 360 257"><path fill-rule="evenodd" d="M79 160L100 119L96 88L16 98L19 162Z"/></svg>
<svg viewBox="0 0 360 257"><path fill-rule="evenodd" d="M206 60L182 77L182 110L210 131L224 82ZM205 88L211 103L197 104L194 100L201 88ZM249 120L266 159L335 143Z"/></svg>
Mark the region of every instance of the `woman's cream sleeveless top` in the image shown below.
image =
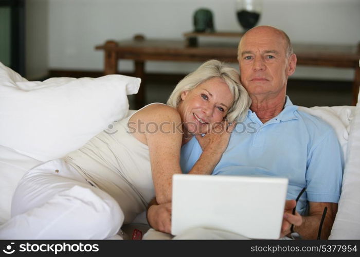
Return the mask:
<svg viewBox="0 0 360 257"><path fill-rule="evenodd" d="M149 148L131 134L131 117L115 122L111 133L101 132L64 157L85 179L115 198L125 224L146 210L155 197Z"/></svg>

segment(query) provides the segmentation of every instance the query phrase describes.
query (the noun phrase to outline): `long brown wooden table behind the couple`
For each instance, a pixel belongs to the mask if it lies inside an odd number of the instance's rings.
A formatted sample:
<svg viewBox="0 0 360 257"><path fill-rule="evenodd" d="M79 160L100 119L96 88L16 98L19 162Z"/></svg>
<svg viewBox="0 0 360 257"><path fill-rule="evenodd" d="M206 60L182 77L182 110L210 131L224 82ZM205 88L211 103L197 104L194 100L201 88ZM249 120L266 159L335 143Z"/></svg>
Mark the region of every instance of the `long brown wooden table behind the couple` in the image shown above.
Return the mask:
<svg viewBox="0 0 360 257"><path fill-rule="evenodd" d="M353 68L355 70L352 104L357 102L360 85L360 43L351 45L309 45L294 44L294 52L298 65L322 67ZM199 43L196 47L189 47L181 40L152 40L135 36L134 40L106 41L104 45L96 46L97 50L105 52L104 74L118 73L118 60L128 59L135 62L135 76L145 78L145 61L199 61L218 59L225 62L238 62L237 44L234 43ZM141 83L135 96L136 107L145 104L145 86Z"/></svg>

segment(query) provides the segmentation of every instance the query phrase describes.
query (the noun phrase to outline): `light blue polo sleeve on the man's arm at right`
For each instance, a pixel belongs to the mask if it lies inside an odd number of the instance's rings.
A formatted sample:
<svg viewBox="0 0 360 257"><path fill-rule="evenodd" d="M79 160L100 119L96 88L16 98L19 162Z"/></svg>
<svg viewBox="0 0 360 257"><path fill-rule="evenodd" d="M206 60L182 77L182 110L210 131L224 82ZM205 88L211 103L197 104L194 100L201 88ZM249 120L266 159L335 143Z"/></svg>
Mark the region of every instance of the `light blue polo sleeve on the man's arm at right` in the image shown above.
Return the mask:
<svg viewBox="0 0 360 257"><path fill-rule="evenodd" d="M332 128L310 148L307 160L309 201L338 203L343 179L343 152Z"/></svg>

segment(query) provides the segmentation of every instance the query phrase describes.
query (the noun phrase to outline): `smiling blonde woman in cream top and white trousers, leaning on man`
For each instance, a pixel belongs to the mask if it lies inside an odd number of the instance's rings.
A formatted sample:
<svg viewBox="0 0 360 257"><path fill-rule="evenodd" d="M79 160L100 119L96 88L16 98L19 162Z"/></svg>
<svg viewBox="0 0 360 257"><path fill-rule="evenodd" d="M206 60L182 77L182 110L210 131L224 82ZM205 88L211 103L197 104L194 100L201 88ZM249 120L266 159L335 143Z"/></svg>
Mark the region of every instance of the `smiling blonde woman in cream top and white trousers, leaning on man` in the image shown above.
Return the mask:
<svg viewBox="0 0 360 257"><path fill-rule="evenodd" d="M192 174L211 174L225 151L233 121L249 106L238 72L205 62L175 87L168 104L147 105L63 159L30 170L12 200L7 239L99 239L146 210L171 201L172 175L182 173L181 146L207 134ZM208 133L218 130L219 133ZM56 147L56 145L54 146Z"/></svg>

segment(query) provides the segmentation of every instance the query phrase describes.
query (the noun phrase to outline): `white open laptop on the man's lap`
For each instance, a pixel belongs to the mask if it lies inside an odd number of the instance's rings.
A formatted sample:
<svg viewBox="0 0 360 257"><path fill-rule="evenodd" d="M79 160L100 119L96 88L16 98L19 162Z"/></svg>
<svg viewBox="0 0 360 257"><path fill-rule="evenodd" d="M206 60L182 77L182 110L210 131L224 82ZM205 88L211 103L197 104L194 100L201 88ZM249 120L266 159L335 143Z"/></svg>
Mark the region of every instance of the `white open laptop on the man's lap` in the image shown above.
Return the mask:
<svg viewBox="0 0 360 257"><path fill-rule="evenodd" d="M278 239L287 178L173 175L171 233L197 227Z"/></svg>

